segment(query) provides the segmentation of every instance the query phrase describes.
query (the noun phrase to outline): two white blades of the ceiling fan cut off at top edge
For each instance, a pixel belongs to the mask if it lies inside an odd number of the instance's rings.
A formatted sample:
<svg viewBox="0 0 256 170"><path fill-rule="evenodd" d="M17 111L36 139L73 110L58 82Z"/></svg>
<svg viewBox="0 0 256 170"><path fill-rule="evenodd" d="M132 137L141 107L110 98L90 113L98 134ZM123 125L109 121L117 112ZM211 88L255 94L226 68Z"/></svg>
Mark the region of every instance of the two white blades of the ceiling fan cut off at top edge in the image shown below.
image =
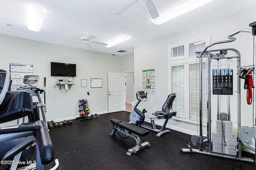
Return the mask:
<svg viewBox="0 0 256 170"><path fill-rule="evenodd" d="M131 6L133 6L134 4L136 4L139 0L132 0L130 1L128 4L126 4L125 6L123 6L120 10L118 10L115 15L120 16L121 14L123 14L126 10L128 10ZM154 5L154 3L152 2L152 0L144 0L147 1L146 2L146 6L148 8L148 12L151 16L152 19L158 18L159 14L156 10L156 7Z"/></svg>

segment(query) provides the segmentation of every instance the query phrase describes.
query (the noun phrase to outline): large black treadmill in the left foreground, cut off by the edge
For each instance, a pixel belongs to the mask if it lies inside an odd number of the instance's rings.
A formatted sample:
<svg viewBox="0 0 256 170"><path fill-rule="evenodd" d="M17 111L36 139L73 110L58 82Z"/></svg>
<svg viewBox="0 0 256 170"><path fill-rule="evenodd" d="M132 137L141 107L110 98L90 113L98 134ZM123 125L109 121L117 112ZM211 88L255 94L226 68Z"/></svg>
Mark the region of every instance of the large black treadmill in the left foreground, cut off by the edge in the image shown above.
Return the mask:
<svg viewBox="0 0 256 170"><path fill-rule="evenodd" d="M8 92L9 70L0 70L0 123L20 119L33 113L32 95L24 91ZM2 143L13 143L10 149L4 150ZM36 145L36 169L43 170L44 164L52 162L54 151L48 129L44 121L28 122L0 128L1 164L13 158L14 164L8 164L16 169L23 150ZM29 155L28 155L29 156Z"/></svg>

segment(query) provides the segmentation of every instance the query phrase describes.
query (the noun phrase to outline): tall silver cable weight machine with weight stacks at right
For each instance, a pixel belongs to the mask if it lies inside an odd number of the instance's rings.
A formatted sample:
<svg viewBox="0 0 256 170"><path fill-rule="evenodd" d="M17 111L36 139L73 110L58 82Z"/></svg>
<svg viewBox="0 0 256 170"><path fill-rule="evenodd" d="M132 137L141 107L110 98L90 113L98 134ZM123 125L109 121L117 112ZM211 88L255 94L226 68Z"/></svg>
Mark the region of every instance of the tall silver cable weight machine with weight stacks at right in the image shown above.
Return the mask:
<svg viewBox="0 0 256 170"><path fill-rule="evenodd" d="M200 121L199 121L199 136L197 135L192 135L191 137L191 142L194 146L197 146L199 144L199 149L192 149L190 147L190 143L187 145L188 149L180 149L181 152L193 152L193 153L200 153L200 154L206 154L206 155L211 155L211 156L218 156L218 157L223 157L223 158L230 158L230 159L236 159L238 157L239 160L241 161L245 161L245 162L252 162L255 163L255 161L252 158L244 158L241 157L241 144L243 144L245 147L247 147L248 149L251 149L253 151L255 151L255 147L252 147L252 139L254 138L256 140L256 116L255 116L255 109L256 107L254 107L254 127L241 127L241 104L240 104L240 78L239 78L239 72L240 72L240 53L236 50L236 49L216 49L216 50L208 50L206 51L209 47L216 45L216 44L220 44L220 43L228 43L228 42L232 42L235 41L236 38L234 38L233 36L241 33L241 32L247 32L247 33L252 33L252 35L254 36L254 62L256 61L255 57L256 57L256 45L255 45L255 35L256 35L256 22L250 23L249 25L250 27L252 27L251 29L240 29L230 35L228 35L228 39L229 40L225 40L225 41L218 41L215 43L212 43L211 45L208 45L204 51L202 52L196 52L197 57L199 58L199 81L200 81L200 92L199 92L199 117L200 117ZM232 51L232 57L228 56L227 54L230 53L230 51ZM207 136L204 137L202 130L203 130L203 117L202 117L202 59L206 58L206 104L207 104L207 108L206 108L206 114L207 114ZM226 146L228 146L228 141L225 141L225 139L227 139L227 137L224 137L224 134L226 134L225 130L223 131L223 126L229 126L230 128L232 128L232 121L230 121L230 92L228 89L226 91L226 94L228 95L227 99L227 103L228 103L228 114L223 114L223 113L219 113L219 94L218 92L221 94L223 93L222 91L216 91L217 94L217 102L218 102L218 113L217 113L217 120L216 120L216 131L218 131L218 125L221 127L221 140L217 140L216 138L214 139L215 134L212 134L212 115L211 115L211 85L214 86L214 71L211 70L211 62L212 61L217 61L217 67L219 66L219 61L222 59L236 59L237 62L237 76L236 76L236 95L237 95L237 140L236 143L234 143L233 141L233 148L236 150L236 155L234 155L234 153L231 152L222 152L223 148L225 148ZM254 63L255 66L255 63ZM216 69L216 71L221 70L221 69ZM233 74L235 76L235 74ZM212 79L210 79L212 77ZM217 74L218 77L218 74ZM219 76L220 78L220 76ZM235 77L234 77L235 78ZM255 82L255 76L254 76L254 82ZM212 81L211 81L212 80ZM220 88L221 89L221 88ZM214 94L214 88L212 88L212 93ZM232 90L233 91L233 90ZM225 92L224 92L225 93ZM255 94L256 97L256 94ZM225 121L222 121L222 118L224 117ZM225 122L225 125L223 125L223 122ZM231 125L228 125L231 122ZM220 130L219 129L219 130ZM232 134L232 132L230 133ZM233 137L234 138L234 137ZM229 138L230 139L230 138ZM205 146L205 147L204 147ZM219 151L216 151L216 149L214 150L214 147L218 148L219 147ZM218 150L218 149L217 149ZM224 149L225 150L225 149ZM233 150L234 151L234 150Z"/></svg>

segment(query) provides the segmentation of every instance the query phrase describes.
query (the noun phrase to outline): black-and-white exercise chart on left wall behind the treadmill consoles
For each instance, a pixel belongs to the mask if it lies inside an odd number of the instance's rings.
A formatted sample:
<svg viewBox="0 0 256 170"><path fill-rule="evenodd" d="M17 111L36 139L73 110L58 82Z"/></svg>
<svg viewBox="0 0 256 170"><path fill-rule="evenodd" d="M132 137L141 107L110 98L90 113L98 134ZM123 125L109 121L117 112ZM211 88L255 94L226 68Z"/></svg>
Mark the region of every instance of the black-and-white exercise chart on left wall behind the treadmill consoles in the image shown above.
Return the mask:
<svg viewBox="0 0 256 170"><path fill-rule="evenodd" d="M25 75L33 75L32 64L14 64L10 63L10 80L12 80L11 91L15 91L22 86Z"/></svg>

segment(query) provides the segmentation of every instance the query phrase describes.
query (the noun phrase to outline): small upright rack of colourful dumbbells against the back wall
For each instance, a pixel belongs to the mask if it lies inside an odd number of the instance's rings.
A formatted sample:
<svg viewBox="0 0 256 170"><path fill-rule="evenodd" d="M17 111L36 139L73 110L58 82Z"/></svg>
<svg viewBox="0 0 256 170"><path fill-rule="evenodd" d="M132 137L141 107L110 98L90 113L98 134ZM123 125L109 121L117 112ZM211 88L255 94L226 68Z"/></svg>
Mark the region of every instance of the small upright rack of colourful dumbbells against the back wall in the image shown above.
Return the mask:
<svg viewBox="0 0 256 170"><path fill-rule="evenodd" d="M76 119L80 119L80 121L87 120L87 119L92 119L95 117L99 117L99 115L96 114L90 114L90 107L88 106L88 100L82 99L78 100L78 112L80 113L79 117L76 117Z"/></svg>

